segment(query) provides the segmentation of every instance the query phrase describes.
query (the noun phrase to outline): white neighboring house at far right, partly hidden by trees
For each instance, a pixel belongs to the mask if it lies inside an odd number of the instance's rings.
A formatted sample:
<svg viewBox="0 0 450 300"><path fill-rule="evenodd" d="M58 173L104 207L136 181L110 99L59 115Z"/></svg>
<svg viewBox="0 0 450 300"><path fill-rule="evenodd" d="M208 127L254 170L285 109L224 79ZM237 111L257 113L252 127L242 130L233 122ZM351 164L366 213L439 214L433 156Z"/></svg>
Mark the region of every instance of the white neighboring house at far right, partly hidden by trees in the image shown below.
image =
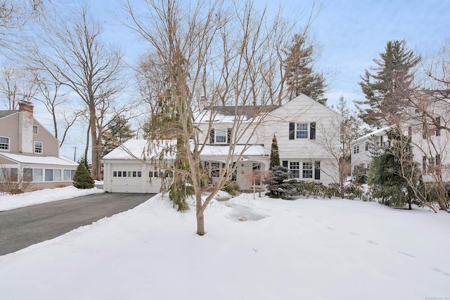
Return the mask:
<svg viewBox="0 0 450 300"><path fill-rule="evenodd" d="M425 98L426 99L426 98ZM410 138L413 146L413 159L422 169L424 181L434 181L435 172L439 170L442 181L450 181L450 133L442 127L449 127L450 102L448 98L435 100L421 99L424 104L404 110L401 131ZM424 107L423 111L416 107ZM390 145L386 131L390 127L378 129L352 142L352 171L358 164L368 167L372 157L368 144Z"/></svg>

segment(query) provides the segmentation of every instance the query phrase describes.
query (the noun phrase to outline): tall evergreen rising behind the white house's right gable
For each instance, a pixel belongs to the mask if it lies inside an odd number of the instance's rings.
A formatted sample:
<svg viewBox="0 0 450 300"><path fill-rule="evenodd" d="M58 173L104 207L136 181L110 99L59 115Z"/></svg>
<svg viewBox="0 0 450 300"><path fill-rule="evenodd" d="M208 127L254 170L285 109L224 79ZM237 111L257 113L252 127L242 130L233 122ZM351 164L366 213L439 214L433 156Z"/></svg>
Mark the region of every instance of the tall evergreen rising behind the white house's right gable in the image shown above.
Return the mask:
<svg viewBox="0 0 450 300"><path fill-rule="evenodd" d="M292 44L286 48L284 67L289 100L304 93L319 103L326 103L327 99L323 98L328 87L325 78L323 74L313 71L315 51L316 46L307 34L295 34Z"/></svg>

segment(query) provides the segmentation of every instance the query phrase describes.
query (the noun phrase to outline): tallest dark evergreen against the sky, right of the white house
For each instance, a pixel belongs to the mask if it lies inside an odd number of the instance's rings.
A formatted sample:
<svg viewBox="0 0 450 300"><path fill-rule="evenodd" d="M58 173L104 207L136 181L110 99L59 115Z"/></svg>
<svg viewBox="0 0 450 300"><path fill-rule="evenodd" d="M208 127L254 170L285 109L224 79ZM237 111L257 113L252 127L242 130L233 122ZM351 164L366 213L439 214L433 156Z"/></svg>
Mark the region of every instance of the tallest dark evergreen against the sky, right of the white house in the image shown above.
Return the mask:
<svg viewBox="0 0 450 300"><path fill-rule="evenodd" d="M359 82L366 100L355 103L366 124L380 128L399 121L402 104L411 93L413 68L420 60L406 47L406 40L387 42L385 52L373 59L372 72L366 70Z"/></svg>

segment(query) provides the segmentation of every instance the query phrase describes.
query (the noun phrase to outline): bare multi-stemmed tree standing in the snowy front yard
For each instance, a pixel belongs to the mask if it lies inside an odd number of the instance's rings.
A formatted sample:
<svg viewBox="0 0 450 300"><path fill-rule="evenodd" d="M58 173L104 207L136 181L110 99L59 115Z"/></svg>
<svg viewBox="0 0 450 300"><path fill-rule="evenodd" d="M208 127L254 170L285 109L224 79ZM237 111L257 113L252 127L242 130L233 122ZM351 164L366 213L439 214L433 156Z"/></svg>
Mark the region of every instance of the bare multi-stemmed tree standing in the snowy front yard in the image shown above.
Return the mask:
<svg viewBox="0 0 450 300"><path fill-rule="evenodd" d="M280 103L283 97L282 48L292 39L292 27L282 20L281 11L269 20L267 12L259 11L252 1L145 3L145 10L136 10L124 1L127 25L148 41L163 74L168 74L167 89L157 98L166 103L170 118L159 136L169 136L167 129L172 129L170 138L184 143L188 169L173 171L188 176L195 190L197 233L204 235L207 205L236 170L238 164L233 162L250 147L253 134L270 111L268 105ZM209 110L194 119L200 96L210 100ZM249 112L243 105L258 106ZM224 109L234 112L229 152L212 193L203 198L200 155L214 119Z"/></svg>

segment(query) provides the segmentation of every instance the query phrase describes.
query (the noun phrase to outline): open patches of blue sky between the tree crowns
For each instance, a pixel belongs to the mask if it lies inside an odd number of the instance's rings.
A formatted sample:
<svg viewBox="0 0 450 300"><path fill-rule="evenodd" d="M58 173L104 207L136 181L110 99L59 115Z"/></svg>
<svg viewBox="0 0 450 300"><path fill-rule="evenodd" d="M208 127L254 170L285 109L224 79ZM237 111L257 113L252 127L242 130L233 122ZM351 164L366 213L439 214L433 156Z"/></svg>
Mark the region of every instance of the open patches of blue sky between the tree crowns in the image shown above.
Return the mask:
<svg viewBox="0 0 450 300"><path fill-rule="evenodd" d="M262 1L255 2L263 5ZM104 27L103 37L122 46L127 61L135 64L146 45L135 34L117 25L113 15L123 15L117 9L119 3L119 0L95 0L90 6ZM278 1L270 1L269 11L275 11L278 4ZM287 18L304 18L311 8L309 0L285 0L281 4L285 6ZM311 34L322 49L316 67L323 70L330 81L326 95L328 105L337 103L341 95L349 106L353 100L364 99L358 85L360 75L374 65L373 59L384 51L387 41L406 39L409 48L425 54L442 48L450 39L449 11L450 0L323 1ZM300 19L300 25L302 23ZM73 157L73 150L68 141L61 154Z"/></svg>

